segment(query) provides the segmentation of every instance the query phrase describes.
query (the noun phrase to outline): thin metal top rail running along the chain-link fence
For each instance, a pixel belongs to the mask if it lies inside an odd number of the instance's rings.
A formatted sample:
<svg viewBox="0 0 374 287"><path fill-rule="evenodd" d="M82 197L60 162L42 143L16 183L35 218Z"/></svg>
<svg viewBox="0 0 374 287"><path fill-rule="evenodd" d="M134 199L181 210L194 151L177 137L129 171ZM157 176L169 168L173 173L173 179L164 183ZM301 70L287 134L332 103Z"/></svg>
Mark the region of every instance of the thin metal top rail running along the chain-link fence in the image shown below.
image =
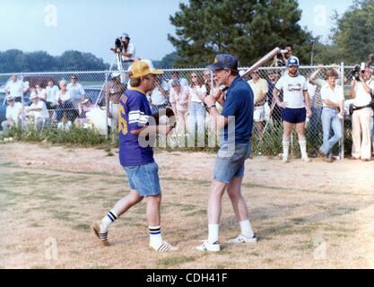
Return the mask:
<svg viewBox="0 0 374 287"><path fill-rule="evenodd" d="M341 65L323 65L323 68L341 68ZM353 65L344 65L345 69L352 69L354 66ZM242 66L239 67L239 70L245 71L248 70L248 66ZM317 69L318 65L300 65L300 69ZM286 66L261 66L258 68L259 70L284 70L286 69ZM206 71L208 70L207 68L168 68L168 69L160 69L163 72L188 72L188 71ZM53 74L110 74L113 72L120 72L116 70L104 70L104 71L59 71L59 72L18 72L18 73L2 73L0 76L11 76L13 74L16 74L18 76L30 76L30 75L53 75ZM126 73L126 72L123 72Z"/></svg>

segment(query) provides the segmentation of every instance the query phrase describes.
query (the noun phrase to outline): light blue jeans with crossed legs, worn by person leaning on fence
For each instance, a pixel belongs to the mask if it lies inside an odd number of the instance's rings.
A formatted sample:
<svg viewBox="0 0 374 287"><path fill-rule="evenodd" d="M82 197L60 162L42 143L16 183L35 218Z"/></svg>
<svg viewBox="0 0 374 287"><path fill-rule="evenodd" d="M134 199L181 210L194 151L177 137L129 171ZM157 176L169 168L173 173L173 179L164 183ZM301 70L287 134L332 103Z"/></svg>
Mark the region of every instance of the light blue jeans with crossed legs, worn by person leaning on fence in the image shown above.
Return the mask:
<svg viewBox="0 0 374 287"><path fill-rule="evenodd" d="M327 156L331 156L331 150L333 149L335 143L339 142L343 137L343 126L342 122L337 117L337 109L331 109L324 107L322 109L322 129L324 132L323 135L323 144L319 148L321 152L324 152ZM330 138L330 131L333 128L334 135Z"/></svg>

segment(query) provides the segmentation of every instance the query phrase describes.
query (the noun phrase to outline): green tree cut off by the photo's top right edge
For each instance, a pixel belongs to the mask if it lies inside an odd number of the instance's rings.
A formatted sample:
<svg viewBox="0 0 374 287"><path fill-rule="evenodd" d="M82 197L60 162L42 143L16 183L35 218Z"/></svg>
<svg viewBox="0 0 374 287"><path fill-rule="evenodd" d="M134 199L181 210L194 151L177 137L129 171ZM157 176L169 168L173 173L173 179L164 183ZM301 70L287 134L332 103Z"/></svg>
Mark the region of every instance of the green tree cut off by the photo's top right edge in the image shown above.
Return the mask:
<svg viewBox="0 0 374 287"><path fill-rule="evenodd" d="M337 17L333 31L337 51L346 64L365 61L374 52L374 0L356 0Z"/></svg>

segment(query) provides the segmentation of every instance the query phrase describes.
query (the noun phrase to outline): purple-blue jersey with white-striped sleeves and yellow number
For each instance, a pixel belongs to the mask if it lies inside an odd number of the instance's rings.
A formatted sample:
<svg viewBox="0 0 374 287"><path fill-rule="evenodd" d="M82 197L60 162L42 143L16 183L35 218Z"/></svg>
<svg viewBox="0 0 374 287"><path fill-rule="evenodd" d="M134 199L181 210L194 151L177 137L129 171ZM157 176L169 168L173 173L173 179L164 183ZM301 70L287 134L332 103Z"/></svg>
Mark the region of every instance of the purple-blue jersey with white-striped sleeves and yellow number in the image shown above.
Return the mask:
<svg viewBox="0 0 374 287"><path fill-rule="evenodd" d="M143 165L154 161L152 146L141 146L139 135L130 133L147 126L151 115L151 107L143 91L125 91L125 100L120 100L118 106L119 162L122 166Z"/></svg>

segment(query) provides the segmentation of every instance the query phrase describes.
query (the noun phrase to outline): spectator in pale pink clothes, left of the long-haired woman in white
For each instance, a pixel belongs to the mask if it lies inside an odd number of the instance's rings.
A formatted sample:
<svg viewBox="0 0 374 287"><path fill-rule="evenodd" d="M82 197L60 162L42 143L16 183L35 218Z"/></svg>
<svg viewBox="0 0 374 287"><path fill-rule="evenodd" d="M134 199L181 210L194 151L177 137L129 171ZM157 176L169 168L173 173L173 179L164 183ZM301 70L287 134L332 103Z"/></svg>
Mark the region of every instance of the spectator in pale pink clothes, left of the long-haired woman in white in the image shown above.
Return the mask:
<svg viewBox="0 0 374 287"><path fill-rule="evenodd" d="M182 86L178 80L171 82L170 103L174 114L177 115L177 134L186 134L189 102L188 90L188 87Z"/></svg>

